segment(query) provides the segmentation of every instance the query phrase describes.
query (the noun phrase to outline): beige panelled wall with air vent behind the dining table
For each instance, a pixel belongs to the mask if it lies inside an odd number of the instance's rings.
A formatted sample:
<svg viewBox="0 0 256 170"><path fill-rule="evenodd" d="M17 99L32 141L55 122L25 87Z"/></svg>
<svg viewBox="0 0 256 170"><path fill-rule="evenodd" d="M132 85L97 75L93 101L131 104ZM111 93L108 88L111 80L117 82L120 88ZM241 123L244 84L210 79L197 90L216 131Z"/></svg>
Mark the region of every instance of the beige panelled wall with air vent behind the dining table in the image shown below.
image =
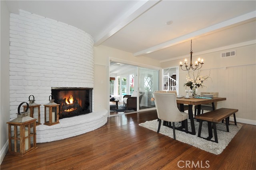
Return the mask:
<svg viewBox="0 0 256 170"><path fill-rule="evenodd" d="M222 52L236 50L236 56L220 58ZM189 54L188 54L189 56ZM212 80L205 81L206 87L198 92L219 92L226 101L218 102L218 108L235 108L238 121L256 124L256 45L238 47L230 50L212 52L193 57L204 58L201 75L210 72ZM184 61L182 59L181 61ZM163 68L178 66L180 60L162 63ZM180 70L179 88L185 95L186 71Z"/></svg>

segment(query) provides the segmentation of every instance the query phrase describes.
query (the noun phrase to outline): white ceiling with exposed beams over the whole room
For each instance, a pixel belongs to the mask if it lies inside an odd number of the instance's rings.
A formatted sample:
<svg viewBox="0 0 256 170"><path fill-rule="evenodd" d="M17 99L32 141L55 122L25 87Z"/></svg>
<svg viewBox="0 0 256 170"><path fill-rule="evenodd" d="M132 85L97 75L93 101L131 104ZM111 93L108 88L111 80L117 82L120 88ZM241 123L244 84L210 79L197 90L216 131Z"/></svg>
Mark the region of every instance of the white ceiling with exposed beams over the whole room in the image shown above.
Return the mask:
<svg viewBox="0 0 256 170"><path fill-rule="evenodd" d="M256 1L6 1L88 32L100 44L160 62L232 44L256 43ZM167 21L173 23L166 25Z"/></svg>

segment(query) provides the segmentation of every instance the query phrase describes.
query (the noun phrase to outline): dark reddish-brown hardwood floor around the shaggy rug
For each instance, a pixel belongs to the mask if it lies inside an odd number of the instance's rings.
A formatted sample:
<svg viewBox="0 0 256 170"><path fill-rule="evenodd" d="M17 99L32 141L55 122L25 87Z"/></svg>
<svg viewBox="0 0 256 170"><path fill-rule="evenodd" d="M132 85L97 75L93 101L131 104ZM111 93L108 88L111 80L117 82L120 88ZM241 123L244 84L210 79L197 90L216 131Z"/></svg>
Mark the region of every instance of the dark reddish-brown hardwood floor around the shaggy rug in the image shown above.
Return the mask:
<svg viewBox="0 0 256 170"><path fill-rule="evenodd" d="M38 148L24 157L7 153L0 168L256 170L256 126L243 124L226 149L220 155L214 155L138 126L141 122L156 118L156 111L110 117L104 126L92 132L37 144ZM197 168L191 168L192 162L199 162L200 168L198 165Z"/></svg>

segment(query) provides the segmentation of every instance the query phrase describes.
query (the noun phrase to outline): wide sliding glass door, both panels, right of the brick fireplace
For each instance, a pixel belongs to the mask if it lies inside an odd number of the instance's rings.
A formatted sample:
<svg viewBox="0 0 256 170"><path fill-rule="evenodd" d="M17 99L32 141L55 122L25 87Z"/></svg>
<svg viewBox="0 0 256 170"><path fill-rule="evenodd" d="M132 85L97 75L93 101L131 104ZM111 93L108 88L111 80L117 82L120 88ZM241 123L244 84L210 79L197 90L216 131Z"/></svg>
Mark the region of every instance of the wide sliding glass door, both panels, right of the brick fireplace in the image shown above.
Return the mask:
<svg viewBox="0 0 256 170"><path fill-rule="evenodd" d="M118 108L110 101L111 116L154 108L153 92L158 89L158 70L110 62L110 96L118 100ZM124 100L124 95L132 96Z"/></svg>

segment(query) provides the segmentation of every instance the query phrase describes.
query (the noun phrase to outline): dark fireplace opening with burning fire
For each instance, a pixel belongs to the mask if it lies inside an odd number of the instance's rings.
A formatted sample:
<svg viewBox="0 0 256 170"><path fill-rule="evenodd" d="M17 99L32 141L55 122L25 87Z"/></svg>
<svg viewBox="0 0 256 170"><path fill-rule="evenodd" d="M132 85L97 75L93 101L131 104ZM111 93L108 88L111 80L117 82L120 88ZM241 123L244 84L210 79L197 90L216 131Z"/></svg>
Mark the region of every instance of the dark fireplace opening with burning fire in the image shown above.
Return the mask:
<svg viewBox="0 0 256 170"><path fill-rule="evenodd" d="M52 95L60 104L59 119L92 112L92 88L52 88Z"/></svg>

